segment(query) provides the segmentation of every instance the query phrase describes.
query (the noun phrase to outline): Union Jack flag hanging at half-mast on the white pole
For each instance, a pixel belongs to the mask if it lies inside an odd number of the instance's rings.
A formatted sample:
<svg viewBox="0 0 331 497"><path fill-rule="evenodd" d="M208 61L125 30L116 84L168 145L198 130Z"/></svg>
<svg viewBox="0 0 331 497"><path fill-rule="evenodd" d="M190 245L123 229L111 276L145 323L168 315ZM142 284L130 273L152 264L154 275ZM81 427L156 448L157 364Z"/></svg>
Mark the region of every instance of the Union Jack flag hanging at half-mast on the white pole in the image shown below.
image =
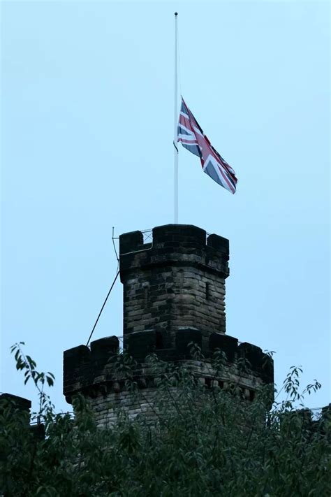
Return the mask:
<svg viewBox="0 0 331 497"><path fill-rule="evenodd" d="M183 98L179 113L177 141L180 141L183 147L192 154L200 157L204 173L232 194L235 193L237 184L235 171L209 142Z"/></svg>

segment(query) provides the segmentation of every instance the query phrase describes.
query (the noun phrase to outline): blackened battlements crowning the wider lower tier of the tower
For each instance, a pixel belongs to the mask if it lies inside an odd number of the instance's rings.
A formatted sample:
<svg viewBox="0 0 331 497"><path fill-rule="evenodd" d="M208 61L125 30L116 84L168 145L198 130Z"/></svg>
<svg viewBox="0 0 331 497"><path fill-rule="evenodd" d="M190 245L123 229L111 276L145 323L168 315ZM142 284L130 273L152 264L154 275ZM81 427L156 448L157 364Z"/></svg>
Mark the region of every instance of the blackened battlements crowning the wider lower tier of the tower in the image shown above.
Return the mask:
<svg viewBox="0 0 331 497"><path fill-rule="evenodd" d="M136 361L135 373L138 385L145 388L154 386L153 375L146 365L147 356L156 354L161 361L167 363L190 363L193 361L193 370L196 375L206 376L206 371L201 369L200 364L194 361L191 355L190 344L199 347L203 345L202 333L196 329L182 329L177 331L175 347L168 349L163 347L162 339L157 331L144 331L132 333L128 338L128 354ZM78 392L95 398L98 394L119 393L125 390L125 382L115 368L119 340L117 337L101 338L91 343L91 348L80 345L64 352L64 395L68 402ZM238 343L237 338L226 336L221 333L212 333L209 337L209 346L204 351L205 361L210 361L216 350L224 353L226 366L224 368L223 380L227 379L227 370L232 366L237 369L239 359L247 359L248 368L246 373L240 373L243 386L257 387L259 384L268 384L274 381L273 361L264 354L260 347L250 343ZM238 373L239 374L239 373ZM207 374L208 376L208 374ZM210 371L209 371L210 376ZM252 383L253 379L253 383Z"/></svg>

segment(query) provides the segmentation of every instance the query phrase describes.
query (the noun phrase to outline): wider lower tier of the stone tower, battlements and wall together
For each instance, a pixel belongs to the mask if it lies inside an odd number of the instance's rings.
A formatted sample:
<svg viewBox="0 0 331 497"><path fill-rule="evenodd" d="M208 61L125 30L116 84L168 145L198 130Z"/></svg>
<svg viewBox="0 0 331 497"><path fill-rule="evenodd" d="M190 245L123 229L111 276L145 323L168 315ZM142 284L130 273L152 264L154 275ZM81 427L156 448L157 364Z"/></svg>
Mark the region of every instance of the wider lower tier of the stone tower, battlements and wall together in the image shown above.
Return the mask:
<svg viewBox="0 0 331 497"><path fill-rule="evenodd" d="M260 347L249 343L238 345L237 338L221 333L209 336L209 354L205 359L195 359L188 345L201 345L203 336L200 331L184 329L177 331L174 349L156 349L156 332L142 331L132 333L128 340L128 352L132 352L133 368L131 379L137 391L128 391L126 374L115 366L117 355L116 337L101 338L91 343L91 350L80 345L64 352L64 394L72 403L78 392L91 399L96 412L98 424L105 424L115 419L119 406L128 412L130 417L140 412L147 412L153 417L153 399L158 391L159 378L169 371L169 366L184 367L189 370L200 384L206 387L227 388L236 384L242 391L243 398L253 400L260 385L273 382L273 362L263 354ZM153 348L154 347L154 348ZM223 363L216 371L208 355L220 350L223 352ZM154 352L160 361L153 364L147 361L147 355ZM248 368L242 368L243 359L249 361Z"/></svg>

